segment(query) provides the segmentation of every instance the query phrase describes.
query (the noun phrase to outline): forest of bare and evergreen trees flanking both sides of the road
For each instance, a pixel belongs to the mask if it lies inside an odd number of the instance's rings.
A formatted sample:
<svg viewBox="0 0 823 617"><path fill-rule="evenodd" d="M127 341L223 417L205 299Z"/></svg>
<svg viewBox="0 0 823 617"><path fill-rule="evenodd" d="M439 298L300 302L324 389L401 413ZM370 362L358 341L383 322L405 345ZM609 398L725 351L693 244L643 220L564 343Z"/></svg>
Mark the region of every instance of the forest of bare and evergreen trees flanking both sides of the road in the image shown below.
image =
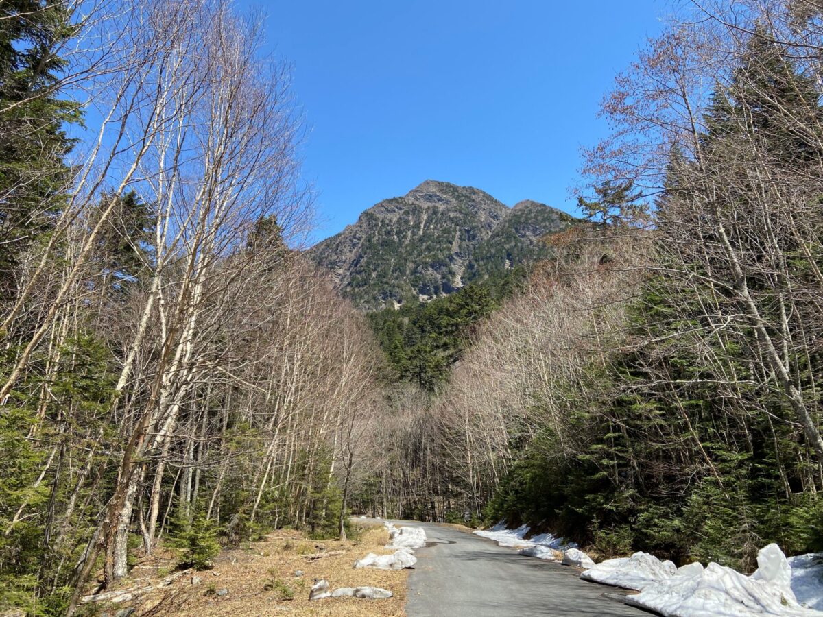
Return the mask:
<svg viewBox="0 0 823 617"><path fill-rule="evenodd" d="M677 10L603 101L585 222L364 314L299 250L258 21L3 2L0 609L350 512L746 571L823 549L823 9Z"/></svg>

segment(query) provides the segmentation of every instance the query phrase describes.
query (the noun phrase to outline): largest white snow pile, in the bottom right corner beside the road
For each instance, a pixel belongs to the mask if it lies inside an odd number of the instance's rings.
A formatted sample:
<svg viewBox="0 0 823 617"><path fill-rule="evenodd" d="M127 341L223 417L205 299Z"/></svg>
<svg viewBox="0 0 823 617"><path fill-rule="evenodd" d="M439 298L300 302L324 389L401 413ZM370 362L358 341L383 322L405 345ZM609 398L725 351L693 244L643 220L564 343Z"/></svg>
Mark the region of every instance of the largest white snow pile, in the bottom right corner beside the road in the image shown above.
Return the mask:
<svg viewBox="0 0 823 617"><path fill-rule="evenodd" d="M797 602L789 587L791 568L778 545L771 544L760 550L757 554L757 572L751 577L714 563L706 568L700 564L689 564L667 575L671 568L665 562L661 568L652 570L649 564L653 562L646 560L640 573L663 578L652 581L646 577L640 581L636 577L639 561L635 560L631 567L628 567L629 562L623 562L627 566L625 574L620 572L620 564L613 564L618 567L613 568L610 578L619 580L621 587L632 588L632 582L640 582L642 591L636 596L626 596L626 604L653 610L665 617L823 616L823 613L802 608ZM635 585L634 588L639 586Z"/></svg>

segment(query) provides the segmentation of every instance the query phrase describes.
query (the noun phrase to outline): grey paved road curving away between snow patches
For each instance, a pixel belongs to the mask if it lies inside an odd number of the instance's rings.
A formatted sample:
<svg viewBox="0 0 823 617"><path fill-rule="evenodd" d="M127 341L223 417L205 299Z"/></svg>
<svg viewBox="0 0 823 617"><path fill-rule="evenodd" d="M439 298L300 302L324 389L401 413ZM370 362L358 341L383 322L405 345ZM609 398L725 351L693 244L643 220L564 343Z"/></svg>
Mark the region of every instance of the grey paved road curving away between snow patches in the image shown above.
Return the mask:
<svg viewBox="0 0 823 617"><path fill-rule="evenodd" d="M649 615L604 596L625 592L581 581L573 568L525 557L454 527L406 524L423 527L429 540L415 551L409 617Z"/></svg>

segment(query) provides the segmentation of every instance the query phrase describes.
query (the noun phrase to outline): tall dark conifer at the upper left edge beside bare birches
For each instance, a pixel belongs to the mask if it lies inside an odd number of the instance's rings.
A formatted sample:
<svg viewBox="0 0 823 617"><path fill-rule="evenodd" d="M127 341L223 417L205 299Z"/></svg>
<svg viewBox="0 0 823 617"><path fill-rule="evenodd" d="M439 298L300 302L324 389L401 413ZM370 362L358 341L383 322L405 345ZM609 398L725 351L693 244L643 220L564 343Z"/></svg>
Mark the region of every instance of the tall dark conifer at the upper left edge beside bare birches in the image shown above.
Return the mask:
<svg viewBox="0 0 823 617"><path fill-rule="evenodd" d="M73 35L65 2L7 0L0 6L0 302L15 293L22 253L63 207L76 104L61 98L59 51Z"/></svg>

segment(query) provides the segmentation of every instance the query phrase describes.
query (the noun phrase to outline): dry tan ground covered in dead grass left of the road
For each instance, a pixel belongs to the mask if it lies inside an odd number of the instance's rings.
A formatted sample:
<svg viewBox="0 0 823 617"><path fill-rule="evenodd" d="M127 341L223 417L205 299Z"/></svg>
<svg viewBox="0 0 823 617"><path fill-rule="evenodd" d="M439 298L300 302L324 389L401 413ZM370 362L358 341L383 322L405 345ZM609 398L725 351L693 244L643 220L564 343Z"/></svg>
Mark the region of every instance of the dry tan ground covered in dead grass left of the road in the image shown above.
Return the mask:
<svg viewBox="0 0 823 617"><path fill-rule="evenodd" d="M309 540L299 531L277 531L261 542L224 550L211 570L185 573L167 587L141 596L138 602L100 606L97 615L114 617L126 605L137 608L133 617L405 615L407 570L353 568L355 560L367 553L391 553L384 548L386 544L388 532L373 523L362 527L356 540L343 542ZM146 587L169 578L173 575L168 568L172 563L169 558L170 555L165 554L151 561L142 560L133 568L129 583L133 587ZM303 575L296 576L298 571ZM309 601L309 590L314 581L321 578L329 582L332 590L368 585L388 589L394 596L388 600Z"/></svg>

